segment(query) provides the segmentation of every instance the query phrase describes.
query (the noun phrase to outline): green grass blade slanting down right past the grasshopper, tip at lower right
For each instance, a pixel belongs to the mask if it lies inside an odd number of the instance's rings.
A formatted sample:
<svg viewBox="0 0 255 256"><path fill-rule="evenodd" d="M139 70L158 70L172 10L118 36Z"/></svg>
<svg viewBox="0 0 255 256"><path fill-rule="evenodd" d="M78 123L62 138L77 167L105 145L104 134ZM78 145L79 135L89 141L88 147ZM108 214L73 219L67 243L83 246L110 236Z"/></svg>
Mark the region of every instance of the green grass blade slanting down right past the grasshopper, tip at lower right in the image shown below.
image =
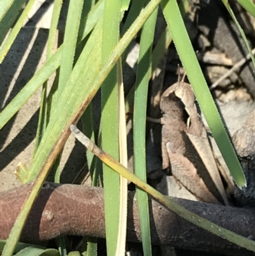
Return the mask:
<svg viewBox="0 0 255 256"><path fill-rule="evenodd" d="M221 150L221 154L230 169L233 179L237 185L242 188L242 186L246 186L244 172L238 162L237 154L235 154L235 150L231 145L217 107L215 106L212 95L210 94L207 83L205 82L205 78L203 77L203 73L201 72L198 59L196 58L196 54L193 46L191 45L191 41L189 40L182 16L180 15L177 1L163 0L161 4L175 47L177 48L180 60L187 72L187 77L189 78L189 82L191 82L196 99L198 100L201 110L205 115L205 119L207 119L212 135L214 135L214 139Z"/></svg>

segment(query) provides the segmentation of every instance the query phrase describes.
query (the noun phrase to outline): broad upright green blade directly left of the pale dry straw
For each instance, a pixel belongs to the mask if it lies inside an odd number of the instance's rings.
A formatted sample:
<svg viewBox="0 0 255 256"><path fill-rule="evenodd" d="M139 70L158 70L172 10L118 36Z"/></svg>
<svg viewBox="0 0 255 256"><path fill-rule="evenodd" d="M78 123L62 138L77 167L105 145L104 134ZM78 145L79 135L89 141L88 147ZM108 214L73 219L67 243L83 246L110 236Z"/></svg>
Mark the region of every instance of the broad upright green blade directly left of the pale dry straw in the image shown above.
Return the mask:
<svg viewBox="0 0 255 256"><path fill-rule="evenodd" d="M102 63L105 64L119 41L121 0L105 1L103 16ZM119 160L118 86L117 66L106 77L101 87L102 146ZM120 177L107 165L103 165L105 229L107 255L115 255L119 230Z"/></svg>

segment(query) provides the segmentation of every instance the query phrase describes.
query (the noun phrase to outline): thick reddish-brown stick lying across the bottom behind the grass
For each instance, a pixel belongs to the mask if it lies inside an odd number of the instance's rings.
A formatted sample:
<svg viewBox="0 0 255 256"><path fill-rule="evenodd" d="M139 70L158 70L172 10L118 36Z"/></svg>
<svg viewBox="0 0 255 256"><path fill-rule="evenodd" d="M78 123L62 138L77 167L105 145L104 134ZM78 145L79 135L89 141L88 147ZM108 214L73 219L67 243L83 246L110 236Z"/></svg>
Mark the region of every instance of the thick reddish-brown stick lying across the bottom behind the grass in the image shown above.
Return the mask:
<svg viewBox="0 0 255 256"><path fill-rule="evenodd" d="M9 236L33 183L0 194L0 239ZM18 199L17 199L18 195ZM255 237L254 210L175 199L180 205L245 237ZM103 189L45 183L23 230L22 241L39 241L68 234L105 237ZM252 255L196 227L149 199L152 243L228 255ZM128 196L128 241L140 242L140 222L134 193Z"/></svg>

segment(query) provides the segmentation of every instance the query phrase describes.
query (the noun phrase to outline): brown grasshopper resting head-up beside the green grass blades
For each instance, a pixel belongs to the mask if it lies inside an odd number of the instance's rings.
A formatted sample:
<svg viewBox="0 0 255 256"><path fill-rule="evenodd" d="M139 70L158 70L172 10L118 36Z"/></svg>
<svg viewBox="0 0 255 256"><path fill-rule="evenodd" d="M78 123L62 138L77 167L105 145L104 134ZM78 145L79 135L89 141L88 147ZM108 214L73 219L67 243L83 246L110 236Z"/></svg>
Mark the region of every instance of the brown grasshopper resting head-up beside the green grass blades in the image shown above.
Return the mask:
<svg viewBox="0 0 255 256"><path fill-rule="evenodd" d="M169 167L173 176L199 199L219 203L201 178L202 170L208 172L209 175L205 177L215 184L214 192L228 204L207 132L196 109L191 85L184 82L183 78L168 87L161 96L160 106L163 112L163 169Z"/></svg>

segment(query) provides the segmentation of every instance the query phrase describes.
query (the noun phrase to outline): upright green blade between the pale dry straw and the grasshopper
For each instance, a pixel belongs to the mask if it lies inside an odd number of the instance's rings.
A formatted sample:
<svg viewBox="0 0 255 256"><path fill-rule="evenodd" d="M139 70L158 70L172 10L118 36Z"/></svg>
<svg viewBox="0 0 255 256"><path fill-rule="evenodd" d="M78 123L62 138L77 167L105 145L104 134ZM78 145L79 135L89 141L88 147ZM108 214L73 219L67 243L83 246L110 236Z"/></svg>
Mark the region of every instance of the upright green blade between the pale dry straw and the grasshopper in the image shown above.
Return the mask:
<svg viewBox="0 0 255 256"><path fill-rule="evenodd" d="M145 154L147 95L151 74L151 54L156 19L157 8L154 10L152 15L150 15L142 28L136 73L133 132L135 174L145 182L147 180ZM142 233L143 253L144 255L152 255L148 196L147 193L140 190L140 188L137 188L137 200Z"/></svg>

